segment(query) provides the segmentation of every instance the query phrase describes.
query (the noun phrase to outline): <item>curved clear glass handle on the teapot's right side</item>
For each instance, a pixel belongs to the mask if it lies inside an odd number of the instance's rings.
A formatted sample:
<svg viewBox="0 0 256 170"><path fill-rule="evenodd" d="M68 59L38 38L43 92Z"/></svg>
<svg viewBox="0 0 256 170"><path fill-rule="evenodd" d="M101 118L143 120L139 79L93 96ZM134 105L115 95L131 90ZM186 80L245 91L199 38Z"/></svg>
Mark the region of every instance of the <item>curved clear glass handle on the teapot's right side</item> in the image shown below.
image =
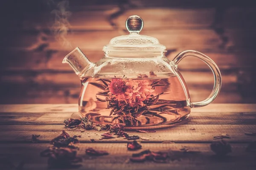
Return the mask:
<svg viewBox="0 0 256 170"><path fill-rule="evenodd" d="M210 59L209 57L207 57L206 55L204 55L198 51L193 51L193 50L183 51L180 54L178 54L172 60L172 62L174 62L174 64L177 66L177 64L180 62L180 60L187 56L197 57L197 58L201 59L202 61L204 61L211 68L213 76L214 76L214 86L213 86L212 93L206 99L204 99L200 102L191 102L190 103L191 108L203 107L205 105L210 104L218 96L218 94L221 90L221 72L220 72L218 66L215 64L215 62L212 61L212 59ZM181 82L181 83L185 84L185 82Z"/></svg>

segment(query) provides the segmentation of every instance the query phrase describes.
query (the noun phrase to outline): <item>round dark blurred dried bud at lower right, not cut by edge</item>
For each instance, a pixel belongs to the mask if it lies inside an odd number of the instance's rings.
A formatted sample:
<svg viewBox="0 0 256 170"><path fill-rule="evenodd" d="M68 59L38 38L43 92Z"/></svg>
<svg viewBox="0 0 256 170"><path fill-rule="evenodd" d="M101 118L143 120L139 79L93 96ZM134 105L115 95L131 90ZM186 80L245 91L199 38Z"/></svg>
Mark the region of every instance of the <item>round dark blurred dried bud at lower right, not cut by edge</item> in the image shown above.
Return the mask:
<svg viewBox="0 0 256 170"><path fill-rule="evenodd" d="M216 155L224 156L227 155L227 153L232 152L231 146L228 142L221 139L218 142L213 142L211 145L211 150L216 153Z"/></svg>

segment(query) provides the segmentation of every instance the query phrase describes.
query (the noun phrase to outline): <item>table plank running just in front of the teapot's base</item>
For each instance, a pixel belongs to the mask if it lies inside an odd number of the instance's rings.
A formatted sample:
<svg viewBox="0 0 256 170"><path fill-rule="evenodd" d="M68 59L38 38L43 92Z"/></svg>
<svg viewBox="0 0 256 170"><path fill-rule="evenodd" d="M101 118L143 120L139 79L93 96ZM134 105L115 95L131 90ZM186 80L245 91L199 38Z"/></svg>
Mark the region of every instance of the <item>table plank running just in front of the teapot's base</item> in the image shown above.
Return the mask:
<svg viewBox="0 0 256 170"><path fill-rule="evenodd" d="M62 119L61 119L62 122ZM10 127L15 125L4 125L1 129L5 128L18 128L19 130L6 130L0 131L0 142L31 142L32 134L39 134L42 136L43 142L49 142L54 137L58 136L64 125L20 125L16 127ZM195 128L195 130L190 130ZM23 129L23 130L22 130ZM166 127L157 129L157 133L139 133L135 131L128 131L129 135L137 135L140 137L149 138L146 142L164 142L172 141L175 143L210 143L213 141L214 136L219 136L222 133L229 134L231 139L227 139L229 142L251 142L255 139L254 136L247 136L245 132L253 132L256 129L256 125L179 125L174 124L172 127ZM90 139L94 139L96 142L127 142L124 138L112 138L100 140L101 134L105 131L88 130L81 133L79 129L68 130L70 136L81 135L81 142L91 142ZM203 134L202 134L203 133Z"/></svg>

